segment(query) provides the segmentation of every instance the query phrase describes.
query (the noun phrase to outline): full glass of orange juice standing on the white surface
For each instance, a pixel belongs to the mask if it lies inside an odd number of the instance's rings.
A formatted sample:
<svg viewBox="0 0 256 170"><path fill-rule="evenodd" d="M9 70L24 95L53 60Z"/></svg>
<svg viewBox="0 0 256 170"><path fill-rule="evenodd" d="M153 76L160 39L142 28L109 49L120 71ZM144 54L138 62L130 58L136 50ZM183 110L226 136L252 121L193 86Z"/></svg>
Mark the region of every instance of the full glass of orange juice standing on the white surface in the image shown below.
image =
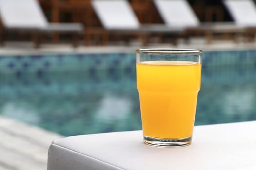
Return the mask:
<svg viewBox="0 0 256 170"><path fill-rule="evenodd" d="M201 50L136 50L144 142L153 146L191 143L197 94L201 85Z"/></svg>

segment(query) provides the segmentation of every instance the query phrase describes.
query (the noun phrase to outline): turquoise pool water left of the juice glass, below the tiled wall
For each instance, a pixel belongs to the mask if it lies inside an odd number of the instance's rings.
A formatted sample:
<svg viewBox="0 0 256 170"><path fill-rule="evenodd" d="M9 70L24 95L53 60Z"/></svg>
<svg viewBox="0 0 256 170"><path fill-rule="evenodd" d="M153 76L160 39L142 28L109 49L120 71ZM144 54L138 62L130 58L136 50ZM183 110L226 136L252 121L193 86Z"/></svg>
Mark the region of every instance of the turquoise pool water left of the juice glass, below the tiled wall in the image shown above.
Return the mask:
<svg viewBox="0 0 256 170"><path fill-rule="evenodd" d="M141 129L135 72L0 77L0 113L62 135Z"/></svg>

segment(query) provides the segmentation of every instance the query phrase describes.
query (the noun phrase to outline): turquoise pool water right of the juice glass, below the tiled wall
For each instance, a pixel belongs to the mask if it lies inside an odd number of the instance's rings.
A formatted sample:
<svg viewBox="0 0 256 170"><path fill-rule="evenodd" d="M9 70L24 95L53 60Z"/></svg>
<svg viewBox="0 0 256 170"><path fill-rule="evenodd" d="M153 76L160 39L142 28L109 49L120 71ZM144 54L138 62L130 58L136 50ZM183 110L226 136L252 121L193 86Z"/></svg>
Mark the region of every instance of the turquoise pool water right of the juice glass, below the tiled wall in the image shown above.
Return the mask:
<svg viewBox="0 0 256 170"><path fill-rule="evenodd" d="M256 120L256 68L203 68L196 124Z"/></svg>

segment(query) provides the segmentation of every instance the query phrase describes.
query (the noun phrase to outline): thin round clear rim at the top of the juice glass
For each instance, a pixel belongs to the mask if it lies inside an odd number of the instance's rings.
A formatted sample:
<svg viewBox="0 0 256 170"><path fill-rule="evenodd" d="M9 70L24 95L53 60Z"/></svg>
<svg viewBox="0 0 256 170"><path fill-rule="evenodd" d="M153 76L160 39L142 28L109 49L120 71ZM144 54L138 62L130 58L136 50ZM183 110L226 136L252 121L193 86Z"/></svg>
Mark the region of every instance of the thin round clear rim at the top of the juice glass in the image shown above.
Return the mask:
<svg viewBox="0 0 256 170"><path fill-rule="evenodd" d="M197 49L175 49L175 48L149 48L137 49L136 53L164 53L164 54L201 54L202 50Z"/></svg>

